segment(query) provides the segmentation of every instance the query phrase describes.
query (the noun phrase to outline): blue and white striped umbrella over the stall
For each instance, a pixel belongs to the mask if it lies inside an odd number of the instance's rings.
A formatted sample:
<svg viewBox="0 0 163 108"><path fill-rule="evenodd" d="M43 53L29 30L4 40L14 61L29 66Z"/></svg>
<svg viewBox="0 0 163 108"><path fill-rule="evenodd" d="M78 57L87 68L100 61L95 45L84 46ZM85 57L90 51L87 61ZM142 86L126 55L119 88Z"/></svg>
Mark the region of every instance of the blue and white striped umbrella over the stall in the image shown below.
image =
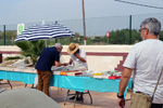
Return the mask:
<svg viewBox="0 0 163 108"><path fill-rule="evenodd" d="M29 27L22 31L22 33L14 40L18 41L33 41L33 40L48 40L58 37L74 36L73 31L63 25L59 24L45 24Z"/></svg>

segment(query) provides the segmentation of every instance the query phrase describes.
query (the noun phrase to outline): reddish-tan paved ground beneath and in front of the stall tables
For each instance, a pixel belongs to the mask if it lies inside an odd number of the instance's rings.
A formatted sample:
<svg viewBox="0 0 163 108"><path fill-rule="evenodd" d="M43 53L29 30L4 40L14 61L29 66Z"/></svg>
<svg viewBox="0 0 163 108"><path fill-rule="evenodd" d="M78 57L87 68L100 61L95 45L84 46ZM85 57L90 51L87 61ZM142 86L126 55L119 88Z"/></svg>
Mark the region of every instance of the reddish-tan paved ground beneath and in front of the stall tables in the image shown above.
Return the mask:
<svg viewBox="0 0 163 108"><path fill-rule="evenodd" d="M2 83L7 82L7 80L2 81ZM24 87L23 82L16 82L11 81L11 84L13 85L13 89ZM30 87L32 85L27 85L27 87ZM9 84L2 84L0 85L2 89L10 90ZM74 107L74 102L71 99L66 100L66 105L64 105L64 97L66 95L67 90L65 89L59 89L58 94L58 87L51 86L50 87L50 94L51 98L54 99L62 108L118 108L117 106L117 98L116 93L99 93L99 92L92 92L90 91L90 94L92 96L92 105L90 105L90 99L88 94L84 95L84 103L76 102L76 105ZM74 91L71 91L71 93L74 93ZM130 92L127 92L126 96L126 106L125 108L130 108Z"/></svg>

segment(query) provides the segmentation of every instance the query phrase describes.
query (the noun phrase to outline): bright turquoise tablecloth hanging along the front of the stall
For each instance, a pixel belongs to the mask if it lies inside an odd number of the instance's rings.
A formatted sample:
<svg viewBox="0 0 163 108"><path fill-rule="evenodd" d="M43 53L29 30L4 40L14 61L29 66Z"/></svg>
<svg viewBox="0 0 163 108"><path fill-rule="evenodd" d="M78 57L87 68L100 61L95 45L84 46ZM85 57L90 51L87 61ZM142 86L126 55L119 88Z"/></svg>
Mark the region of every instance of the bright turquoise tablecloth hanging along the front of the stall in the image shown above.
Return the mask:
<svg viewBox="0 0 163 108"><path fill-rule="evenodd" d="M34 84L36 73L4 71L0 70L0 79L11 81L22 81L26 84ZM131 79L128 82L127 89L131 87ZM85 92L85 90L96 92L115 92L118 93L120 80L96 79L89 77L72 77L53 75L51 77L51 86L63 87L72 91ZM127 92L125 91L125 94Z"/></svg>

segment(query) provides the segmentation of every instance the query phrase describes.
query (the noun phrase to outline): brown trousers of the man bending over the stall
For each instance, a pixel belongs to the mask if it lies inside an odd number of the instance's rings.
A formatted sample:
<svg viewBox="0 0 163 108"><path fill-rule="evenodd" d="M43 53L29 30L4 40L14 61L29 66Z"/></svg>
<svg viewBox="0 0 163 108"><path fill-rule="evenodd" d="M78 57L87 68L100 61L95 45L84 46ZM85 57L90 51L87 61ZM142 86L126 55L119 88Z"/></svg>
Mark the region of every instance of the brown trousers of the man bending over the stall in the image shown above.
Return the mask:
<svg viewBox="0 0 163 108"><path fill-rule="evenodd" d="M49 86L50 86L51 72L41 71L41 70L37 70L37 72L38 72L37 90L43 91L45 94L50 96Z"/></svg>

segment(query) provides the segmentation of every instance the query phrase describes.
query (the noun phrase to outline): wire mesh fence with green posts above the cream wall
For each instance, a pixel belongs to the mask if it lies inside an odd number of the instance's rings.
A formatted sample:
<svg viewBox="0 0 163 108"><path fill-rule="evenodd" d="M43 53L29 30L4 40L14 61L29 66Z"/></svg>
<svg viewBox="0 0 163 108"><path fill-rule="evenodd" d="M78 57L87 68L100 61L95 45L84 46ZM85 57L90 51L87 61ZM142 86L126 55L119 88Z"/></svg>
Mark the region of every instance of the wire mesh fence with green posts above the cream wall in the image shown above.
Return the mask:
<svg viewBox="0 0 163 108"><path fill-rule="evenodd" d="M86 37L87 44L134 44L140 41L138 29L140 24L147 17L155 17L163 25L163 13L141 14L129 16L105 16L86 18ZM45 23L55 23L57 21L45 21ZM28 28L42 22L25 23ZM58 21L76 32L74 37L58 38L58 42L68 44L71 42L84 43L83 19ZM163 27L162 27L163 29ZM0 25L0 45L13 45L14 39L17 37L17 24ZM110 31L109 43L105 32ZM123 35L124 33L124 35ZM161 33L160 37L163 37ZM121 39L122 38L122 39ZM53 44L57 39L48 40L48 44ZM163 38L161 38L163 40Z"/></svg>

